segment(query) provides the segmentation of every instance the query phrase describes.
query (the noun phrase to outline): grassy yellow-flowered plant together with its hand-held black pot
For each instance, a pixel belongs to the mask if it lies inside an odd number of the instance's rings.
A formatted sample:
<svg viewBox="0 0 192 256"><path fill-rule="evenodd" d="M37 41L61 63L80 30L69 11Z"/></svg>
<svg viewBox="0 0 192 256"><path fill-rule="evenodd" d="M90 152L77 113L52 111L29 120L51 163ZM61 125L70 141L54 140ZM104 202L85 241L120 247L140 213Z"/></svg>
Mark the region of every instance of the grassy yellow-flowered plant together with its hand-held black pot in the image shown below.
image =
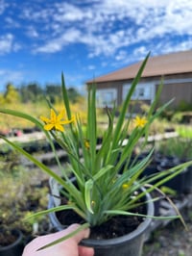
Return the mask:
<svg viewBox="0 0 192 256"><path fill-rule="evenodd" d="M104 131L103 140L99 146L97 145L98 123L94 85L88 88L85 132L81 116L71 113L63 75L61 76L61 90L64 105L60 112L57 112L50 105L50 117L41 116L39 120L17 111L0 109L3 114L20 116L35 123L45 133L60 167L59 175L48 166L38 162L35 157L12 141L3 138L60 184L61 204L59 206L53 205L51 209L36 213L35 216L54 212L62 213L65 220L74 216L72 221L80 221L82 224L77 232L85 227L90 227L91 237L82 243L93 246L95 255L140 255L143 235L151 218L164 218L154 217L152 203L154 199L150 197L149 192L178 175L185 166L192 164L192 162L188 162L162 171L155 176L141 177L142 171L150 163L153 150L142 161L137 162L135 160L132 161L132 164L130 163L135 146L139 142L141 148L145 147L150 125L168 105L165 104L156 110L156 103L161 90L159 87L156 92L156 99L148 113L141 116L137 115L135 118L132 115L127 116L132 93L148 58L149 55L141 64L120 114L115 116L115 105L112 110L106 109L108 127ZM132 127L132 132L128 138L130 127ZM140 140L141 138L145 140ZM57 141L68 155L70 161L68 169L72 173L72 179L60 164L54 141ZM148 183L154 185L145 189L145 185ZM180 218L180 216L167 218ZM66 225L67 223L61 224ZM130 227L132 228L130 229ZM108 228L110 230L107 232ZM96 235L94 235L95 230L97 231ZM108 238L104 237L106 233L108 233ZM59 243L59 241L48 244L48 246L54 243Z"/></svg>

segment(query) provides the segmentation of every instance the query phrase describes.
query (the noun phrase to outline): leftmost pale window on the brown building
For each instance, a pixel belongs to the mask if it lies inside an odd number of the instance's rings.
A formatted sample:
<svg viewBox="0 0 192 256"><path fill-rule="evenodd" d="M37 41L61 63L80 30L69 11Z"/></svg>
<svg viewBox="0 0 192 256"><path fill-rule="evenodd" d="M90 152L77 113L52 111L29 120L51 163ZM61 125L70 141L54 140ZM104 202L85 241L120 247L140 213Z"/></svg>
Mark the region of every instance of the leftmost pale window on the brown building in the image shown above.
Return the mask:
<svg viewBox="0 0 192 256"><path fill-rule="evenodd" d="M117 100L117 90L115 89L105 89L97 90L96 93L97 106L100 108L113 107L114 102Z"/></svg>

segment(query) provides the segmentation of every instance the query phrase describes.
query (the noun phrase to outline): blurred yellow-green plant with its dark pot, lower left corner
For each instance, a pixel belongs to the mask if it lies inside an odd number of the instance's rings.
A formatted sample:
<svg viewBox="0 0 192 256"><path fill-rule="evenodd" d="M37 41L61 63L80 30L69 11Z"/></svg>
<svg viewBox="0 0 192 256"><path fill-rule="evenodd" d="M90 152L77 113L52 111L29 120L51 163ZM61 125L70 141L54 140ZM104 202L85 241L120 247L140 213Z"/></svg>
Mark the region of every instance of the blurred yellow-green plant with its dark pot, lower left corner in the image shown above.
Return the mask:
<svg viewBox="0 0 192 256"><path fill-rule="evenodd" d="M24 244L42 232L46 220L23 219L46 209L48 189L32 185L31 177L18 166L16 175L15 166L9 173L5 169L0 170L0 255L21 256Z"/></svg>

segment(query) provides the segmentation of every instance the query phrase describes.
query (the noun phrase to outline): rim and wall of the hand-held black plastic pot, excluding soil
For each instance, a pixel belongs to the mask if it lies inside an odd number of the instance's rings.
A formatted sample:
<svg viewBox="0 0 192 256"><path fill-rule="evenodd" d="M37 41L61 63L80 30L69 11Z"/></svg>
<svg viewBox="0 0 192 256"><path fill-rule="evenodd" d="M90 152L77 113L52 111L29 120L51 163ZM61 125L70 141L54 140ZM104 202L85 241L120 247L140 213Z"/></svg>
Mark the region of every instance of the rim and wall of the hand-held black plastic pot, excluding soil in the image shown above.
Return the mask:
<svg viewBox="0 0 192 256"><path fill-rule="evenodd" d="M56 187L54 188L56 192ZM142 189L144 190L144 189ZM55 194L55 193L54 193ZM149 193L146 194L146 215L154 216L154 203L151 201L152 197ZM57 205L54 196L50 196L48 208ZM66 226L60 223L55 213L50 213L50 220L53 227L60 231ZM141 256L144 238L148 232L148 227L151 223L151 218L145 218L135 230L122 237L105 240L85 239L81 245L93 247L95 256Z"/></svg>

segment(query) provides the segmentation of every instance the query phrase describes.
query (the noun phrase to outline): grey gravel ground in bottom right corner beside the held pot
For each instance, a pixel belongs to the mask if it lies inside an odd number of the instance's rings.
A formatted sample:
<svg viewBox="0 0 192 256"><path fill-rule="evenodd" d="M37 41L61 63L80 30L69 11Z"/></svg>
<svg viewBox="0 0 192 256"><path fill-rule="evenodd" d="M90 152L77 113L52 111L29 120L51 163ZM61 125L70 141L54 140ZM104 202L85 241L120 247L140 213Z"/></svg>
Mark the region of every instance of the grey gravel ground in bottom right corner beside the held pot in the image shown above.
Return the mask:
<svg viewBox="0 0 192 256"><path fill-rule="evenodd" d="M192 208L184 209L182 217L188 230L179 220L158 228L144 244L142 256L192 256Z"/></svg>

